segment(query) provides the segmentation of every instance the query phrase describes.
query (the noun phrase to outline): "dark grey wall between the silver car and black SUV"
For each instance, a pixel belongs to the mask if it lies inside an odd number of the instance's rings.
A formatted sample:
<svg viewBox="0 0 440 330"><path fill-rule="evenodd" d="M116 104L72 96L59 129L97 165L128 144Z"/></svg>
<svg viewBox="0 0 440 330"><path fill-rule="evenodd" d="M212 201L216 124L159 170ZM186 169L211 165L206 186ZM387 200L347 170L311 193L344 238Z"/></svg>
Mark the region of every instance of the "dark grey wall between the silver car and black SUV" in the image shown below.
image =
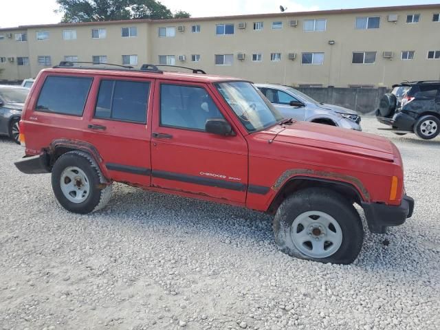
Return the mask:
<svg viewBox="0 0 440 330"><path fill-rule="evenodd" d="M338 88L338 87L295 87L318 102L336 104L366 114L376 111L380 98L389 89L380 88Z"/></svg>

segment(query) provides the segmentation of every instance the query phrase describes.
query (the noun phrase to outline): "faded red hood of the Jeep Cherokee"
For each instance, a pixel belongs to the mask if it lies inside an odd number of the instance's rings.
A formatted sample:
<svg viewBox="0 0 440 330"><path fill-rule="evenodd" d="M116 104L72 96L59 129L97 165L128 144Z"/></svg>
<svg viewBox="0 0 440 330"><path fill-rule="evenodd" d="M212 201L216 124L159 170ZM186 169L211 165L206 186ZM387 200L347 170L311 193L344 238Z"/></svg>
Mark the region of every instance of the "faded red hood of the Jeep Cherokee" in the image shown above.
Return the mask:
<svg viewBox="0 0 440 330"><path fill-rule="evenodd" d="M286 125L274 141L373 157L387 162L393 162L395 156L393 144L384 137L311 122Z"/></svg>

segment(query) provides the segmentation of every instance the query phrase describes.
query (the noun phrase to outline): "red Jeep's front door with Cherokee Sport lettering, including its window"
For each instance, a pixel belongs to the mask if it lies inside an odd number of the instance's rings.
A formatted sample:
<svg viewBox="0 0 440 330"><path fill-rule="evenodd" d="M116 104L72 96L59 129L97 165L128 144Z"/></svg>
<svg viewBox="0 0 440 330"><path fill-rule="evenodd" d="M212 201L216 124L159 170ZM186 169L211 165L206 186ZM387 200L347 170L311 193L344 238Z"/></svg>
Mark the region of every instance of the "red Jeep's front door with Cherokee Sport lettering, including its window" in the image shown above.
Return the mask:
<svg viewBox="0 0 440 330"><path fill-rule="evenodd" d="M154 104L152 185L245 203L248 144L205 131L209 118L228 118L208 85L157 80Z"/></svg>

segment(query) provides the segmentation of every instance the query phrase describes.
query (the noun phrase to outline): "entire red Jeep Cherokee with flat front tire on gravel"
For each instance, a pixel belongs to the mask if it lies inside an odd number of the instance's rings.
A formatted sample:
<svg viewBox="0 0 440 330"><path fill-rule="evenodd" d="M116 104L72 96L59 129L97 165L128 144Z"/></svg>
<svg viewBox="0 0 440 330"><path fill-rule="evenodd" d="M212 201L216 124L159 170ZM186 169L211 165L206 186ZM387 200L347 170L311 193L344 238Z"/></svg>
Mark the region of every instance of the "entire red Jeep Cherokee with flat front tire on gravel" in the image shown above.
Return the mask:
<svg viewBox="0 0 440 330"><path fill-rule="evenodd" d="M285 120L236 78L61 63L36 78L21 117L23 173L52 173L58 202L99 210L113 181L275 214L278 248L351 263L364 230L401 225L414 201L399 151L357 131Z"/></svg>

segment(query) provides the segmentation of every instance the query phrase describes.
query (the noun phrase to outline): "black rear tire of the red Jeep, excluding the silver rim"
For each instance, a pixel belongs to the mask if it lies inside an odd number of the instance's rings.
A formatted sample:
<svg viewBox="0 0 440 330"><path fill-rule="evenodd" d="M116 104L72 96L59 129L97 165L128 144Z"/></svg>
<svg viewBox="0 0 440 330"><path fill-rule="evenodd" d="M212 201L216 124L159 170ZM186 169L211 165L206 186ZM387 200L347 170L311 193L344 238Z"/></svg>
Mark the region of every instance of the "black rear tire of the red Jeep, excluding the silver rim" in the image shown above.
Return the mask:
<svg viewBox="0 0 440 330"><path fill-rule="evenodd" d="M79 168L87 178L89 189L84 201L70 201L61 188L61 176L68 168ZM108 184L104 179L94 159L83 151L71 151L56 159L54 168L52 168L52 189L58 203L63 208L80 214L100 210L107 204L111 196L111 184Z"/></svg>

